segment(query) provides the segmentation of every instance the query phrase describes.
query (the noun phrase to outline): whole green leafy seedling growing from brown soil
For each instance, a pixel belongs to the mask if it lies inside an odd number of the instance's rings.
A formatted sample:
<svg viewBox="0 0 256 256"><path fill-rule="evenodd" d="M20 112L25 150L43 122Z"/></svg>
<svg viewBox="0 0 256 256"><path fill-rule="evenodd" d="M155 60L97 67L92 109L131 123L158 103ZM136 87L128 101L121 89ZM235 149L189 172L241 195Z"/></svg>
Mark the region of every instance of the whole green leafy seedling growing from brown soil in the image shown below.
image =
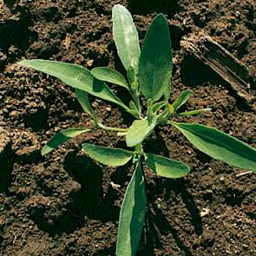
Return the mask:
<svg viewBox="0 0 256 256"><path fill-rule="evenodd" d="M191 90L185 90L172 104L169 103L173 62L169 27L165 16L159 14L154 17L141 49L132 16L128 10L117 4L113 8L113 36L117 53L127 71L127 78L107 67L88 70L71 63L47 60L23 60L19 64L53 75L75 88L78 102L90 115L94 125L94 128L69 128L56 134L43 147L43 155L70 138L93 132L95 129L110 130L117 135L126 136L130 150L89 143L83 143L82 149L85 154L103 165L118 167L127 164L128 161L133 161L135 165L134 174L121 205L116 246L117 256L130 256L135 255L138 248L146 214L147 196L142 162L144 161L154 174L171 179L181 178L190 171L181 161L143 151L143 141L148 139L156 126L174 126L195 148L233 167L255 171L256 150L216 128L174 121L177 115L195 115L211 109L177 112L189 99ZM128 106L115 95L106 82L128 90ZM103 125L90 107L88 94L115 103L132 115L135 121L129 128ZM142 95L147 100L147 112L142 111Z"/></svg>

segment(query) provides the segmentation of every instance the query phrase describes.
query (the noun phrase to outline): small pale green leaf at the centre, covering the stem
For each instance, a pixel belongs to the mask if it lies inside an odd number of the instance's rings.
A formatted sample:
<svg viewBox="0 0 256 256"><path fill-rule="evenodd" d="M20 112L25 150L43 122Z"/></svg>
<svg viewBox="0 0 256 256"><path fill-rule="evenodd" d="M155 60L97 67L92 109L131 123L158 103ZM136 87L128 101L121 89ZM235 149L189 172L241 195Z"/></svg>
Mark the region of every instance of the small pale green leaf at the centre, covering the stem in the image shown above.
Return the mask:
<svg viewBox="0 0 256 256"><path fill-rule="evenodd" d="M148 120L135 120L128 128L126 135L127 146L135 147L140 144L154 130L155 125L155 121L149 124Z"/></svg>

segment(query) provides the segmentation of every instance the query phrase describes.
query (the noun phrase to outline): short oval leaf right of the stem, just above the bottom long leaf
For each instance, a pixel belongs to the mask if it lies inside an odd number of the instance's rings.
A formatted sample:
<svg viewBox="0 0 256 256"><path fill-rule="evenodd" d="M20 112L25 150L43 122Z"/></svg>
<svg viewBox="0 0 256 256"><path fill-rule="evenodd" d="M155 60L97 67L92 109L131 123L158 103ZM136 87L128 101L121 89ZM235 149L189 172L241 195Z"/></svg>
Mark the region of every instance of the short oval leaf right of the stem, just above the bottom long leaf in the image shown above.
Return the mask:
<svg viewBox="0 0 256 256"><path fill-rule="evenodd" d="M166 178L181 178L190 171L183 162L156 154L146 154L146 164L155 174Z"/></svg>

